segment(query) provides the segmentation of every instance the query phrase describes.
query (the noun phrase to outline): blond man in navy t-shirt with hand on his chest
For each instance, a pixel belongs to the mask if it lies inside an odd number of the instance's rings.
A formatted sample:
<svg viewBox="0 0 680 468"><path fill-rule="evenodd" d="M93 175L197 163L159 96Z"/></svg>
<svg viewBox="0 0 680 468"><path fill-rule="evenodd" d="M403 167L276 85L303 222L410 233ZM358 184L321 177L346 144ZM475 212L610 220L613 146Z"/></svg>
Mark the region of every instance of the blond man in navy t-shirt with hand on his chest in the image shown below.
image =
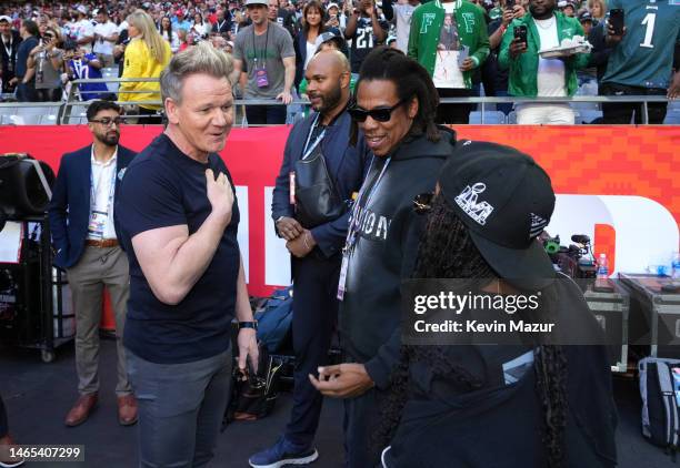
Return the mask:
<svg viewBox="0 0 680 468"><path fill-rule="evenodd" d="M130 260L124 346L141 467L203 467L212 458L234 315L239 367L248 356L257 365L239 208L217 154L233 122L232 71L207 42L170 61L161 73L168 128L128 167L116 207Z"/></svg>

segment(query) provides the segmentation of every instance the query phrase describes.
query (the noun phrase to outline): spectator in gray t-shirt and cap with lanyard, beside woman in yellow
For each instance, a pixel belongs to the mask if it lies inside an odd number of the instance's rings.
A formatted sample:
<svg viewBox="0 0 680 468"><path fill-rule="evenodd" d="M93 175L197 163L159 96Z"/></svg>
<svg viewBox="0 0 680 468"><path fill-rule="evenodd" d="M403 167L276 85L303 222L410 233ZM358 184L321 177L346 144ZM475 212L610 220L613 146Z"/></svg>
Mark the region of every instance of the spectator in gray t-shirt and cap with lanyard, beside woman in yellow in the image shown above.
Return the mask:
<svg viewBox="0 0 680 468"><path fill-rule="evenodd" d="M276 0L273 0L276 1ZM296 50L292 37L268 20L267 0L247 0L252 24L241 29L234 47L234 75L248 73L244 99L292 101ZM286 123L286 105L247 105L249 124Z"/></svg>

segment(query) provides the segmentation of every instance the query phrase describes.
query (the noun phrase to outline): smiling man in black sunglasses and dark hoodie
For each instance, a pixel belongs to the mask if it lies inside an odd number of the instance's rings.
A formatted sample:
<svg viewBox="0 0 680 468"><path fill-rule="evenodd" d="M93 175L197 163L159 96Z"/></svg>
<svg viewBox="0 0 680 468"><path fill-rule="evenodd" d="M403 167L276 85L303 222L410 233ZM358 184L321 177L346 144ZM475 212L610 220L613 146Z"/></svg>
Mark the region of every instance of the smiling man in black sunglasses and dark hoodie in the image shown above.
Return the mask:
<svg viewBox="0 0 680 468"><path fill-rule="evenodd" d="M350 114L374 157L356 201L343 250L338 297L347 363L319 368L310 380L323 395L347 398L349 467L371 467L371 434L399 358L400 282L410 276L420 231L413 199L434 190L456 135L434 125L439 99L426 69L398 50L379 48L363 62Z"/></svg>

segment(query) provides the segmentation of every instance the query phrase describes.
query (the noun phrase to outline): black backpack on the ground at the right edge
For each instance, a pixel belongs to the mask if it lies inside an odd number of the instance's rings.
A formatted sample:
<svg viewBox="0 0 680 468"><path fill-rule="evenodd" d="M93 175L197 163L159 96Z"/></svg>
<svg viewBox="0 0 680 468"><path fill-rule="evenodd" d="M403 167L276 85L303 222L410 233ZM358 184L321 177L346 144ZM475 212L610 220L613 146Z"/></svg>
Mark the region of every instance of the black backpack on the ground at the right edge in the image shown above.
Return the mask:
<svg viewBox="0 0 680 468"><path fill-rule="evenodd" d="M680 430L680 359L646 357L638 367L642 435L674 460Z"/></svg>

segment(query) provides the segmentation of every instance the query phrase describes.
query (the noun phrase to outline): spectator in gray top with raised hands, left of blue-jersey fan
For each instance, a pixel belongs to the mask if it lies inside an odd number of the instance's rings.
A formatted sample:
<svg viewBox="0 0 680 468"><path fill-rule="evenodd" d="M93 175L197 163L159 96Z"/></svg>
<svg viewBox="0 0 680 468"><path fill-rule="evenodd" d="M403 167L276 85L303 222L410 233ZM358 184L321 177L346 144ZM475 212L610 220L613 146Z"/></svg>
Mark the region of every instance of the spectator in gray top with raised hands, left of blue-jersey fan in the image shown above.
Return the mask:
<svg viewBox="0 0 680 468"><path fill-rule="evenodd" d="M49 27L40 45L29 52L27 67L34 69L36 100L57 102L61 100L61 74L63 73L63 50L59 48L61 34L58 28Z"/></svg>

